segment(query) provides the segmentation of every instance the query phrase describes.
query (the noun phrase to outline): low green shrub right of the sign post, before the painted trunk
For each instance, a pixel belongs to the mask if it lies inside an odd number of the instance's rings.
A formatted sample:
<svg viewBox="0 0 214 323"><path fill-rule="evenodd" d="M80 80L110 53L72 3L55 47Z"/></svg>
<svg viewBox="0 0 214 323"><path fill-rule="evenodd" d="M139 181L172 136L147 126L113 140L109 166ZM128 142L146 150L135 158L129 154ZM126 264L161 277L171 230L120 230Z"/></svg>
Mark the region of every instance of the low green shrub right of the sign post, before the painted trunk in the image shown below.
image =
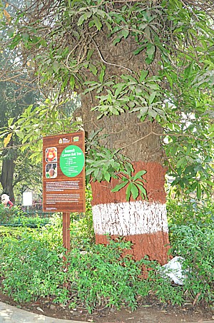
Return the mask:
<svg viewBox="0 0 214 323"><path fill-rule="evenodd" d="M137 307L137 296L148 295L150 282L141 280L142 262L121 257L130 247L130 242L110 240L106 246L88 246L85 252L71 250L67 284L72 306L83 304L89 312L98 307Z"/></svg>

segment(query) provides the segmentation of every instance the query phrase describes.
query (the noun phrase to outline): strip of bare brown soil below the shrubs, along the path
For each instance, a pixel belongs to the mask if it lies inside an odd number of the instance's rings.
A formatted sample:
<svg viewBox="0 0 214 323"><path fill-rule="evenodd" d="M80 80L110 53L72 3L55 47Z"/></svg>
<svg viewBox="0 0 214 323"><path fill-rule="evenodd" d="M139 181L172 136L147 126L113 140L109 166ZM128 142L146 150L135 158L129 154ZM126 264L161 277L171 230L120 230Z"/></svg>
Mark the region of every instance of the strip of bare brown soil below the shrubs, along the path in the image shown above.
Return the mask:
<svg viewBox="0 0 214 323"><path fill-rule="evenodd" d="M214 312L210 307L195 306L186 303L183 307L162 304L154 297L148 297L139 302L138 309L131 312L124 307L120 310L98 309L88 314L85 309L69 309L62 304L54 304L53 299L43 298L36 302L18 304L13 299L0 292L0 302L25 309L36 314L44 314L58 319L73 319L83 322L120 322L120 323L178 323L203 322L214 320ZM213 321L214 322L214 321Z"/></svg>

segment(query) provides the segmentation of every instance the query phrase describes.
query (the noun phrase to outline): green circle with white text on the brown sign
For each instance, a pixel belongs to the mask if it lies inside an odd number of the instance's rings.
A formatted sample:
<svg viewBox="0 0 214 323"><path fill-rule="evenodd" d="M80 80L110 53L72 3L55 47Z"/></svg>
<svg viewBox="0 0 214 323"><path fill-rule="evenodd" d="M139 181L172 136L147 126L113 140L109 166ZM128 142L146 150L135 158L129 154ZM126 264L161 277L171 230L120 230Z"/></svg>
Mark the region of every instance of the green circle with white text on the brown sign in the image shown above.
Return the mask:
<svg viewBox="0 0 214 323"><path fill-rule="evenodd" d="M74 178L83 170L85 157L83 150L76 145L68 145L61 153L59 165L68 178Z"/></svg>

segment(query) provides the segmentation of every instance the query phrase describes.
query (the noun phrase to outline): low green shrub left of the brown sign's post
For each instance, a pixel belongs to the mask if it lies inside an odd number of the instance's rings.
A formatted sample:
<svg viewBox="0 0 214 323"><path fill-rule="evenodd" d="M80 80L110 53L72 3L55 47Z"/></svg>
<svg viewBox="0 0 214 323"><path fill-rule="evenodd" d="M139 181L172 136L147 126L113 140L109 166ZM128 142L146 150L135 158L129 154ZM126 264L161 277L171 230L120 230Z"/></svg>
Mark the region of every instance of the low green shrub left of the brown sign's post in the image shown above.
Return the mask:
<svg viewBox="0 0 214 323"><path fill-rule="evenodd" d="M3 290L17 302L63 293L62 250L49 250L29 231L0 240Z"/></svg>

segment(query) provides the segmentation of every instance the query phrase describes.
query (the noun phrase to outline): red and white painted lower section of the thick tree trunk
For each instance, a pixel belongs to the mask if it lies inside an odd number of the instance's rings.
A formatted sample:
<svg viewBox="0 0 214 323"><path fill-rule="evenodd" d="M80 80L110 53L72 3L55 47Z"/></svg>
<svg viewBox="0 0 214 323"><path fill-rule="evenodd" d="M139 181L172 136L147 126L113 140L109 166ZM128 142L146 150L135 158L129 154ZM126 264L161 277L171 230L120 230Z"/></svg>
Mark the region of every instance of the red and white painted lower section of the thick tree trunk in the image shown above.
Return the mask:
<svg viewBox="0 0 214 323"><path fill-rule="evenodd" d="M126 188L111 193L111 183L92 183L93 224L96 243L107 243L106 235L126 237L133 243L131 254L136 260L148 255L161 264L168 262L168 224L165 209L164 175L159 163L133 163L136 172L147 170L148 201L126 201Z"/></svg>

